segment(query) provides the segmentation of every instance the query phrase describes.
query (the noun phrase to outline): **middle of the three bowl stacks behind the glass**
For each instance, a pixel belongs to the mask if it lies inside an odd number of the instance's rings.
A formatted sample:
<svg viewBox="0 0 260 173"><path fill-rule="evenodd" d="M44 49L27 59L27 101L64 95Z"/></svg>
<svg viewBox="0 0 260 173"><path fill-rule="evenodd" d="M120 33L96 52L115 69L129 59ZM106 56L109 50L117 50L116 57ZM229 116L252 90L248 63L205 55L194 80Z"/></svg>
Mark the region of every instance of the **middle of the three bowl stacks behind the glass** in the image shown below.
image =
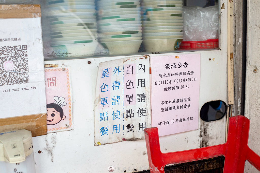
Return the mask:
<svg viewBox="0 0 260 173"><path fill-rule="evenodd" d="M99 42L109 54L136 53L142 43L139 0L99 0Z"/></svg>

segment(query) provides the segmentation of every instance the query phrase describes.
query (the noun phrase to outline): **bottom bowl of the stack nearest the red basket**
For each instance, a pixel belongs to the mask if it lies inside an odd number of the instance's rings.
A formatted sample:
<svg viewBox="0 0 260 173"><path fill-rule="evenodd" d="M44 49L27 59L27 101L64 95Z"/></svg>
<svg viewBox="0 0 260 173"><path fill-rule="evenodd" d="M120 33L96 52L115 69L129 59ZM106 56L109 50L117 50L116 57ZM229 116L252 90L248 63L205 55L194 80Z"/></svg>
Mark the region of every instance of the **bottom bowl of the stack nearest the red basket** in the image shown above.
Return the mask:
<svg viewBox="0 0 260 173"><path fill-rule="evenodd" d="M166 52L179 49L183 39L149 39L144 40L144 46L147 52Z"/></svg>

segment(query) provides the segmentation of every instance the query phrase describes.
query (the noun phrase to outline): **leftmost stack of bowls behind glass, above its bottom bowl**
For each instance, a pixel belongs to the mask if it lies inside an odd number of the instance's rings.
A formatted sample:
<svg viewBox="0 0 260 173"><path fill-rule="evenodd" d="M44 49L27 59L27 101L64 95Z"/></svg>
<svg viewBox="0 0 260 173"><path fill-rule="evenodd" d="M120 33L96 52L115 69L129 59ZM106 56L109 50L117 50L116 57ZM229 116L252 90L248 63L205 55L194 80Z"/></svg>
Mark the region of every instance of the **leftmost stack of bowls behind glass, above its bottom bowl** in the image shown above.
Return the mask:
<svg viewBox="0 0 260 173"><path fill-rule="evenodd" d="M97 43L94 0L47 0L47 10L51 46Z"/></svg>

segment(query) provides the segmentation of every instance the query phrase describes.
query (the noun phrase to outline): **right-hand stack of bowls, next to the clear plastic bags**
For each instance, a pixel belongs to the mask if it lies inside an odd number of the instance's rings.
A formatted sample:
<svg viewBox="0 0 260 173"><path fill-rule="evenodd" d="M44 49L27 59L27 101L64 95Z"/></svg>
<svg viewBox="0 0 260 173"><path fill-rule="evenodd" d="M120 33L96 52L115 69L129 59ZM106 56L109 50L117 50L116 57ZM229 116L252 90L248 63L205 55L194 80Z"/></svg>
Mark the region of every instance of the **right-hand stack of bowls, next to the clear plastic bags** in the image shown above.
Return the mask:
<svg viewBox="0 0 260 173"><path fill-rule="evenodd" d="M147 52L174 51L183 40L182 1L143 0L143 43Z"/></svg>

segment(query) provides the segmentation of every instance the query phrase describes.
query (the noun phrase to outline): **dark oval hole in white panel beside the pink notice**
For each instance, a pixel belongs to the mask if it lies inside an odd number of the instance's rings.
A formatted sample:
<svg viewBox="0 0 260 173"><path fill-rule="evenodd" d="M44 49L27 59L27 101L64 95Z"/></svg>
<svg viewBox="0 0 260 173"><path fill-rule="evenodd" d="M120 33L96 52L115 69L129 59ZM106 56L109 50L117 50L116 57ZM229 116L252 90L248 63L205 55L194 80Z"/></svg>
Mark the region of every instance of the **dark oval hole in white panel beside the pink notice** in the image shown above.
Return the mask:
<svg viewBox="0 0 260 173"><path fill-rule="evenodd" d="M221 119L227 111L227 105L221 100L205 103L200 109L200 118L203 121L214 121Z"/></svg>

